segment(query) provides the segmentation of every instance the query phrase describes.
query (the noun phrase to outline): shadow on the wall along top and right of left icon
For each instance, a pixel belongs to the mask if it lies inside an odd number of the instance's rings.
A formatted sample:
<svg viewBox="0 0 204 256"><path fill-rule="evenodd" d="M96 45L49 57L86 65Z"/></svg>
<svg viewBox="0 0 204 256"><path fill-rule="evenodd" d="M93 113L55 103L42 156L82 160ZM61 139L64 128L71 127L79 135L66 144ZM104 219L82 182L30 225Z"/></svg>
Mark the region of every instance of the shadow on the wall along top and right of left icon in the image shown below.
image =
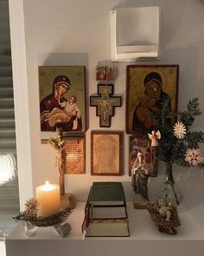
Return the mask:
<svg viewBox="0 0 204 256"><path fill-rule="evenodd" d="M86 111L89 106L89 76L87 53L43 53L38 55L39 66L85 66L86 67ZM89 115L86 113L86 129L89 128Z"/></svg>

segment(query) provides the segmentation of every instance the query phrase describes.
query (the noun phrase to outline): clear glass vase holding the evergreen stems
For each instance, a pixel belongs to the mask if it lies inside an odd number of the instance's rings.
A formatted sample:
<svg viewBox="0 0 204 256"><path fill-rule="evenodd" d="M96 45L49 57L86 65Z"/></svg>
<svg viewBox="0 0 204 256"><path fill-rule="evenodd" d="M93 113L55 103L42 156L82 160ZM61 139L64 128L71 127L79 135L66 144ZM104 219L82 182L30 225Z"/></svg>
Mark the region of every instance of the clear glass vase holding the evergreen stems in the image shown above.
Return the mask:
<svg viewBox="0 0 204 256"><path fill-rule="evenodd" d="M163 185L159 189L159 198L165 198L168 201L171 201L175 205L179 205L182 200L182 192L179 187L175 184L174 175L173 175L173 168L172 164L166 164L165 170L165 181Z"/></svg>

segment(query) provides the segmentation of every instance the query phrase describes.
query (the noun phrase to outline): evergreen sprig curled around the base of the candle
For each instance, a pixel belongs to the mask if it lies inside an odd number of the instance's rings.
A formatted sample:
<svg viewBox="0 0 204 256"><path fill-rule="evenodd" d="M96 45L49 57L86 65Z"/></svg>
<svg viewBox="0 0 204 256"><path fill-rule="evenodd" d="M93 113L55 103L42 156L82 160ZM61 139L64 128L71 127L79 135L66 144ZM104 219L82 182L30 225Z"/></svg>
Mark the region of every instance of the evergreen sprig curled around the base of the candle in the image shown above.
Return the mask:
<svg viewBox="0 0 204 256"><path fill-rule="evenodd" d="M25 222L29 228L41 227L41 226L54 226L64 222L71 210L69 208L63 209L59 213L51 214L48 217L45 216L28 216L27 211L22 211L16 217L13 217L17 222Z"/></svg>

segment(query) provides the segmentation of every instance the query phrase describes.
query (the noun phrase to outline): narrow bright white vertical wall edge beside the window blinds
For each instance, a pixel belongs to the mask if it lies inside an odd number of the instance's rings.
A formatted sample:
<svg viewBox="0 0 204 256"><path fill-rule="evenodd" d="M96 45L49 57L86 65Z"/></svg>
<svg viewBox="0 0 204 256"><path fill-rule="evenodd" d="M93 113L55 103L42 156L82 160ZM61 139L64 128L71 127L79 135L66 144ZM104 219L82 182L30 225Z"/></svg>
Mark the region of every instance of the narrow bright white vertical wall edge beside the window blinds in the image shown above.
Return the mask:
<svg viewBox="0 0 204 256"><path fill-rule="evenodd" d="M33 196L29 98L23 0L10 0L10 42L16 117L16 149L20 206Z"/></svg>

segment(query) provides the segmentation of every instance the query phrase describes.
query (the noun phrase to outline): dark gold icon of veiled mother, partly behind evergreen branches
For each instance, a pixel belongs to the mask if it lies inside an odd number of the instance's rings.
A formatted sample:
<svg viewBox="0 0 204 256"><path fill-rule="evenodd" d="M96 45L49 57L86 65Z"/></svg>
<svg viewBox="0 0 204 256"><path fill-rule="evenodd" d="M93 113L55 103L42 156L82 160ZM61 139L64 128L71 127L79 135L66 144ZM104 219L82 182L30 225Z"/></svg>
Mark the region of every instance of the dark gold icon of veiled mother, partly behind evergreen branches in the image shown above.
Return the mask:
<svg viewBox="0 0 204 256"><path fill-rule="evenodd" d="M129 65L126 69L126 133L142 135L155 127L151 111L168 102L177 110L178 65Z"/></svg>

